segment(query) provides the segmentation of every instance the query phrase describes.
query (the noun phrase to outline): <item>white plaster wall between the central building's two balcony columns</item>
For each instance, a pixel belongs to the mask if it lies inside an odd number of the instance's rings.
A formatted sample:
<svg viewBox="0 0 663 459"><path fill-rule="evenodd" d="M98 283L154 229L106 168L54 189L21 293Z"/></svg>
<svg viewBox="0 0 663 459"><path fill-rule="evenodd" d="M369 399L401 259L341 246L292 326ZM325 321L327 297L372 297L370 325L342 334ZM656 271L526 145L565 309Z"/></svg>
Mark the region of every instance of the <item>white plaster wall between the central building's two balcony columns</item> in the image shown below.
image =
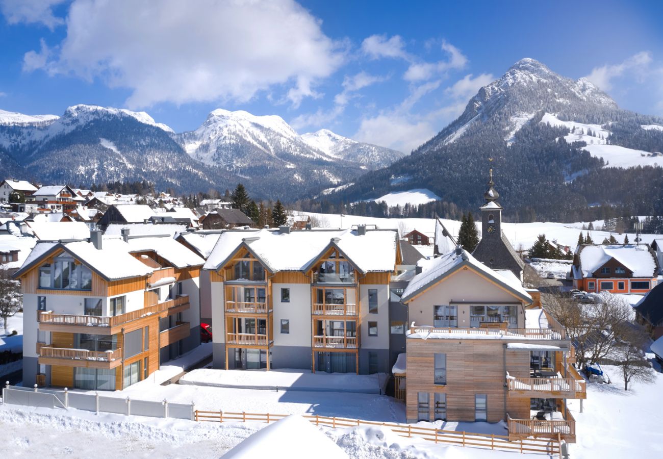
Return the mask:
<svg viewBox="0 0 663 459"><path fill-rule="evenodd" d="M290 289L290 302L281 302L281 289ZM272 284L274 346L311 347L311 286ZM281 334L281 319L290 320L290 333Z"/></svg>

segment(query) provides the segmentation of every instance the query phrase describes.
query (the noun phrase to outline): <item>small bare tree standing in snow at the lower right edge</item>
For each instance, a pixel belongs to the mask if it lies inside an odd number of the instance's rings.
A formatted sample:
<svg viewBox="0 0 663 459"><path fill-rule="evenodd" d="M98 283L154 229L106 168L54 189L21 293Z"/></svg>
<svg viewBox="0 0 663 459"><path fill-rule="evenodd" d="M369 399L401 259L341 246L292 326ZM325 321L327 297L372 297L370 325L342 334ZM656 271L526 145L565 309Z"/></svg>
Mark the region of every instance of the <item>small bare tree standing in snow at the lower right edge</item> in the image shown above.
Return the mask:
<svg viewBox="0 0 663 459"><path fill-rule="evenodd" d="M649 342L649 336L644 328L637 324L627 330L623 336L624 342L617 346L611 357L616 360L624 379L624 390L629 390L631 381L640 383L653 383L656 376L652 365L644 356L644 348Z"/></svg>

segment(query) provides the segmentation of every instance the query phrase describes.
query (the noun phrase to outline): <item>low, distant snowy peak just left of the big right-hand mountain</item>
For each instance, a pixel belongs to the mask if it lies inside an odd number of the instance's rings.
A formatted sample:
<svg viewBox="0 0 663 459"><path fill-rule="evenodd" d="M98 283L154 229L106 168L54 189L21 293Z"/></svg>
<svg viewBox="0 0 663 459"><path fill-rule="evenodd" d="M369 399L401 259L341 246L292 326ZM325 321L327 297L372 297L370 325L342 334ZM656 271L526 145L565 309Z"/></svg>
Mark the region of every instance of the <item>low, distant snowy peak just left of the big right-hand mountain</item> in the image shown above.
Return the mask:
<svg viewBox="0 0 663 459"><path fill-rule="evenodd" d="M320 131L302 134L302 139L311 147L330 157L343 159L351 163L359 163L370 169L387 167L397 159L404 157L404 154L400 151L379 147L371 143L357 142L335 134L329 129L320 129Z"/></svg>

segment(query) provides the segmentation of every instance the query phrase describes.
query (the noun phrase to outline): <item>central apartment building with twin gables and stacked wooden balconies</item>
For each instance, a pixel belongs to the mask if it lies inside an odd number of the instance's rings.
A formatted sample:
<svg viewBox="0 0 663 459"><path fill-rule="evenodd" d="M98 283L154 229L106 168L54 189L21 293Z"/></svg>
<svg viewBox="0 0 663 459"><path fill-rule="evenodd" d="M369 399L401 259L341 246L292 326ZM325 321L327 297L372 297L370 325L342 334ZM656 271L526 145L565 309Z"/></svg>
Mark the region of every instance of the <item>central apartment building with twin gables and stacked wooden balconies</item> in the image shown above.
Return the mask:
<svg viewBox="0 0 663 459"><path fill-rule="evenodd" d="M215 367L375 373L397 356L395 230L227 230L204 269Z"/></svg>

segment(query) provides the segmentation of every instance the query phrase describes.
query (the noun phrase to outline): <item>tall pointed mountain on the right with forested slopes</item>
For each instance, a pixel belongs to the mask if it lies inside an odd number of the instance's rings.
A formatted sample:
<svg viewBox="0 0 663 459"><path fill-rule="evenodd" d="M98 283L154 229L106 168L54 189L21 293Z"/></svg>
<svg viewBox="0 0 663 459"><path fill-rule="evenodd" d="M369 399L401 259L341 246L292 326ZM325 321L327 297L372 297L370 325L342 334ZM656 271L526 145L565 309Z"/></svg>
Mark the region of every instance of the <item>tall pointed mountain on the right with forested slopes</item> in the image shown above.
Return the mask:
<svg viewBox="0 0 663 459"><path fill-rule="evenodd" d="M476 209L492 167L507 218L579 218L601 204L651 215L663 212L661 152L663 118L620 109L589 80L525 58L412 155L326 196L366 202L417 187L446 201L437 212Z"/></svg>

